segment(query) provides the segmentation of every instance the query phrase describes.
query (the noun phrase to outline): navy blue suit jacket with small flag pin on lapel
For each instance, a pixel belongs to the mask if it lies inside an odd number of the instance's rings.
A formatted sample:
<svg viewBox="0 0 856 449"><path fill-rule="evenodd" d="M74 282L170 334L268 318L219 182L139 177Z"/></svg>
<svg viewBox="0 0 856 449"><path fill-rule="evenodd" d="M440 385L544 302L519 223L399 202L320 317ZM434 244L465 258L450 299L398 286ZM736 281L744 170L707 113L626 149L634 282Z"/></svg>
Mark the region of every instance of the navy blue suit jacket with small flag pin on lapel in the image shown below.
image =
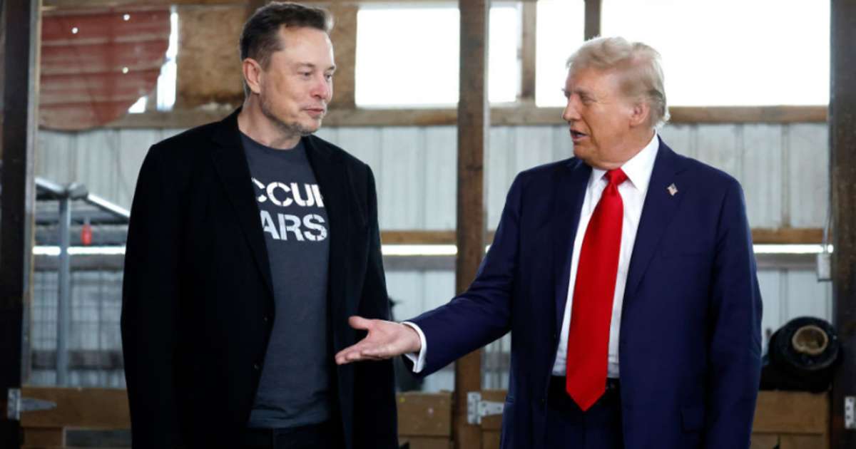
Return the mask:
<svg viewBox="0 0 856 449"><path fill-rule="evenodd" d="M545 397L590 175L576 158L520 173L473 284L411 320L425 333L424 375L511 331L503 449L544 447ZM621 316L625 447L748 448L760 325L740 184L661 140Z"/></svg>

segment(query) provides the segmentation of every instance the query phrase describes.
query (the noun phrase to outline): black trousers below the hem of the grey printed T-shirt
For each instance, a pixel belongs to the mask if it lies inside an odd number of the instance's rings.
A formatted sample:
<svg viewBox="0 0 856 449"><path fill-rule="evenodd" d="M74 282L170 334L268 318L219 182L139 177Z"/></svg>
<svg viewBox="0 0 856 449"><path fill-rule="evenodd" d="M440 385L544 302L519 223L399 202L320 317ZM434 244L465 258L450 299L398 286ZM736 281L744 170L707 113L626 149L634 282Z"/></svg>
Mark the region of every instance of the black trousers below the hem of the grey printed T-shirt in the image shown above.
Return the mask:
<svg viewBox="0 0 856 449"><path fill-rule="evenodd" d="M299 428L247 428L243 449L342 449L342 426L328 421Z"/></svg>

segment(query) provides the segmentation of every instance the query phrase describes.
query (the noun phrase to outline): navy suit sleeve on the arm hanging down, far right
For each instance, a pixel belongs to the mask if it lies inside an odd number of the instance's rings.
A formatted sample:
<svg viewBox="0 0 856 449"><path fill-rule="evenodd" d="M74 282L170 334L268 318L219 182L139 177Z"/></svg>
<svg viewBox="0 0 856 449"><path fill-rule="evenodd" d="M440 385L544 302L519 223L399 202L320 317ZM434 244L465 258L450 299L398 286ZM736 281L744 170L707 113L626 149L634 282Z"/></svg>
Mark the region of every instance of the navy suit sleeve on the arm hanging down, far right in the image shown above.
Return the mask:
<svg viewBox="0 0 856 449"><path fill-rule="evenodd" d="M761 373L761 294L743 192L722 203L710 302L710 371L704 447L749 447Z"/></svg>

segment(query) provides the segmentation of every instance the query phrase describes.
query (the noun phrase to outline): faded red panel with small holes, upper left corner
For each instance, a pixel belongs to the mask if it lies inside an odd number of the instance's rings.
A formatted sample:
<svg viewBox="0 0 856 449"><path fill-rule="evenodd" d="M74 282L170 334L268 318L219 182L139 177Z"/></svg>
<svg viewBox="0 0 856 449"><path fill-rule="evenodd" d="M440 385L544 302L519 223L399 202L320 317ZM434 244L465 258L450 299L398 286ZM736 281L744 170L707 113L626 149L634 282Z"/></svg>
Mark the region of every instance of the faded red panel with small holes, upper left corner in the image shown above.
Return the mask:
<svg viewBox="0 0 856 449"><path fill-rule="evenodd" d="M169 9L46 11L42 18L42 127L102 126L152 92L169 44Z"/></svg>

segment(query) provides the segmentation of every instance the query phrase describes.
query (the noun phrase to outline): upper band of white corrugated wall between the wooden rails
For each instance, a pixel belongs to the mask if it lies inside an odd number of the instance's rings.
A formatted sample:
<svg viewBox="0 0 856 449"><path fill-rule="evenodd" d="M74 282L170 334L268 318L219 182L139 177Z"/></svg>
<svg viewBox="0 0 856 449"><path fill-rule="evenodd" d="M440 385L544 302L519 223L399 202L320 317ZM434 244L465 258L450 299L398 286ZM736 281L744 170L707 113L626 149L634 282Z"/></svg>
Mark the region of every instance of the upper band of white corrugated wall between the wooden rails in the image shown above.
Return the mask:
<svg viewBox="0 0 856 449"><path fill-rule="evenodd" d="M39 133L36 174L79 181L130 207L148 147L179 133L96 130ZM455 227L456 128L339 127L318 135L342 146L375 172L383 229ZM666 125L675 151L740 180L752 227L821 227L829 193L824 124ZM496 227L514 176L573 154L566 126L492 127L485 155L487 226Z"/></svg>

